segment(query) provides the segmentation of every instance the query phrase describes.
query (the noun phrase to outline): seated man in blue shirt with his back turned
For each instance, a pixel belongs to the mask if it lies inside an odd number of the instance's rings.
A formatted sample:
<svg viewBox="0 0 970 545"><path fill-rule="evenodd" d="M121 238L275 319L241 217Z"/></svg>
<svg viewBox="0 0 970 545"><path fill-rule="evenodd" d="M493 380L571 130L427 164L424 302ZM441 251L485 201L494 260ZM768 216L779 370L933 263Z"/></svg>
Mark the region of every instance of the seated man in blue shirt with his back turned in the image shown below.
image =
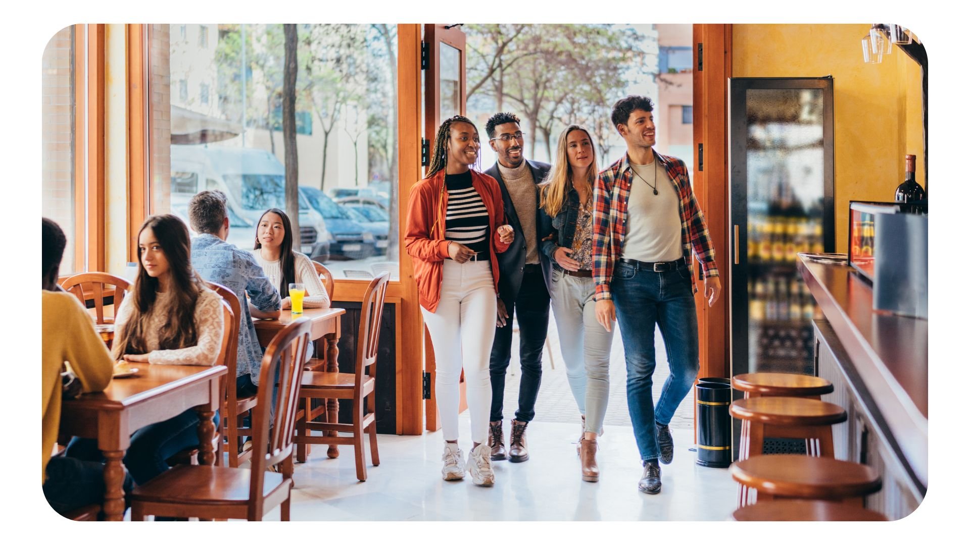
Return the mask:
<svg viewBox="0 0 970 545"><path fill-rule="evenodd" d="M200 191L188 203L188 218L192 230L199 234L192 239L192 267L206 280L233 290L240 299L242 316L236 357L236 393L241 398L252 396L259 386L263 348L256 338L256 328L250 316L278 318L279 292L250 252L226 242L229 215L225 193Z"/></svg>

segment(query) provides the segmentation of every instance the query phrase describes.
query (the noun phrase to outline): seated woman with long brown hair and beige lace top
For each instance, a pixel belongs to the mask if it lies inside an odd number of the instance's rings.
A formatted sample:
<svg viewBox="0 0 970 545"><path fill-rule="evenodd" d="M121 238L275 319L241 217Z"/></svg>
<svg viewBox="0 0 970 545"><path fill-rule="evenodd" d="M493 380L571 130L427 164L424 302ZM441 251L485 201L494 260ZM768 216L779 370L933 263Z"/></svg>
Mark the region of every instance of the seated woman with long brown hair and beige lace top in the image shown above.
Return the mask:
<svg viewBox="0 0 970 545"><path fill-rule="evenodd" d="M132 293L114 316L114 359L141 365L215 364L222 341L222 298L192 269L188 228L172 214L147 218L138 234L138 258ZM215 420L218 426L218 413ZM123 462L135 483L145 484L168 469L167 459L198 445L198 426L199 416L190 408L133 433ZM75 439L68 454L90 448L88 440Z"/></svg>

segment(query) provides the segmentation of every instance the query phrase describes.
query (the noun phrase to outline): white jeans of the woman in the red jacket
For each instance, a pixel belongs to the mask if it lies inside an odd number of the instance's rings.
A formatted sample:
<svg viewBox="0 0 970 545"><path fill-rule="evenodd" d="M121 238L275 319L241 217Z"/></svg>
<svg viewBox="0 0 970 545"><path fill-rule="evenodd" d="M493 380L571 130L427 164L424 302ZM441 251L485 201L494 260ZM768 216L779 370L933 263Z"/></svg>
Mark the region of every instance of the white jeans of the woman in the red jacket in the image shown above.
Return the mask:
<svg viewBox="0 0 970 545"><path fill-rule="evenodd" d="M464 368L471 440L484 443L492 405L488 362L498 312L489 261L444 260L437 310L422 307L421 312L435 347L435 393L444 440L458 439L459 381Z"/></svg>

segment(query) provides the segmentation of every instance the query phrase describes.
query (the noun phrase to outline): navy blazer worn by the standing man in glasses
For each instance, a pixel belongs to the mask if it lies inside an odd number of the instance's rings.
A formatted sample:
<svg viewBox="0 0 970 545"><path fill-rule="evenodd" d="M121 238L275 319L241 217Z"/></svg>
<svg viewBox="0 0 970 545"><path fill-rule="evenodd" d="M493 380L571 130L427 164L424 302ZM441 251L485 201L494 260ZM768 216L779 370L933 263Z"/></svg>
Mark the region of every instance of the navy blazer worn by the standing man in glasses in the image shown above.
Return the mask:
<svg viewBox="0 0 970 545"><path fill-rule="evenodd" d="M533 180L536 184L541 182L549 174L550 166L539 161L526 159L529 170L533 173ZM492 168L485 171L485 174L494 177L499 182L501 188L501 201L505 207L505 221L512 226L515 231L515 239L504 253L499 254L499 297L506 308L511 308L512 304L519 296L519 288L522 286L522 275L526 266L526 240L522 232L522 223L519 222L519 215L515 211L511 197L508 196L508 189L505 187L505 180L501 178L499 163L492 165ZM539 252L539 266L542 268L542 279L545 281L546 290L552 292L552 262L549 257L542 252L542 239L552 232L552 219L545 210L538 208L538 187L535 188L535 247Z"/></svg>

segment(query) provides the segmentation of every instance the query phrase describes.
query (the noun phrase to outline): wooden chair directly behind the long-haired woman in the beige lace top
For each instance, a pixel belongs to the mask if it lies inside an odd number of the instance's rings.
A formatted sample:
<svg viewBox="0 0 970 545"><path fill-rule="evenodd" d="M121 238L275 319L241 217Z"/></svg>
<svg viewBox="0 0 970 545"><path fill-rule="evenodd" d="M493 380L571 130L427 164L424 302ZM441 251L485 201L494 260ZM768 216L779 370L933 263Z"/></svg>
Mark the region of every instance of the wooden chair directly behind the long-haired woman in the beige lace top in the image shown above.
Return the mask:
<svg viewBox="0 0 970 545"><path fill-rule="evenodd" d="M226 437L226 449L229 453L229 466L239 467L240 464L249 460L252 456L252 449L247 448L240 452L240 438L244 435L252 435L250 428L242 426L242 418L256 406L256 396L239 398L236 395L236 374L237 358L239 356L239 338L242 319L242 306L236 296L236 292L215 282L209 282L210 288L215 290L222 299L233 309L237 316L232 322L232 332L229 339L229 346L223 365L226 366L226 379L224 381L224 395L222 409L219 418L222 420L222 431Z"/></svg>

